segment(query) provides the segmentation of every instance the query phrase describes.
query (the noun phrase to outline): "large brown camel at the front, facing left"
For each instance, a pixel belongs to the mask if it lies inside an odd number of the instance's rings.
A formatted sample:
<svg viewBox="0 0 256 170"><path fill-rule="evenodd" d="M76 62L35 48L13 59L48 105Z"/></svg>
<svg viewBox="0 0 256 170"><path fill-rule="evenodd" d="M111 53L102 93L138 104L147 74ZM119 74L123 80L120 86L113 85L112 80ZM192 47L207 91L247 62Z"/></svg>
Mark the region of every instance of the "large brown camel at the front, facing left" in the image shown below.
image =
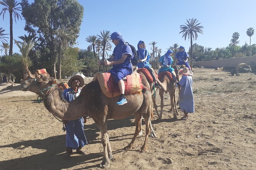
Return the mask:
<svg viewBox="0 0 256 170"><path fill-rule="evenodd" d="M103 161L101 168L109 167L109 160L113 158L109 136L107 132L108 119L124 119L134 114L135 116L135 133L132 141L125 149L132 149L135 138L140 132L140 120L145 119L146 136L140 152L147 151L147 140L150 132L150 114L152 107L152 98L149 92L140 92L137 94L126 95L127 104L118 106L118 97L106 97L98 81L90 82L83 87L80 96L74 101L67 102L63 99L60 89L55 85L57 82L53 77L42 77L37 80L26 80L21 83L21 90L32 91L42 96L46 109L56 117L63 120L74 120L79 117L89 116L98 125L101 131L101 143L103 144ZM147 89L149 84L146 77L142 74L142 83Z"/></svg>

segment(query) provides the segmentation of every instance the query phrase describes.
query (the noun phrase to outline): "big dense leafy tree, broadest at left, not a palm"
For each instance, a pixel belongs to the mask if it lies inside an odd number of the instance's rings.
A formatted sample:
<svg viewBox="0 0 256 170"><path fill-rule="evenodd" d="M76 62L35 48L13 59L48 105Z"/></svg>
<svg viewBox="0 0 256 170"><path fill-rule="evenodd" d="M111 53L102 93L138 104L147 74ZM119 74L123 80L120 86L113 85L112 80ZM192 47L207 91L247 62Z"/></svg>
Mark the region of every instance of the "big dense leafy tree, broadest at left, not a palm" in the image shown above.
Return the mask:
<svg viewBox="0 0 256 170"><path fill-rule="evenodd" d="M45 67L51 66L53 75L56 77L56 62L58 46L54 32L62 26L72 32L73 45L78 38L83 18L83 6L77 0L22 0L22 15L26 20L25 30L36 34L40 44L41 62Z"/></svg>

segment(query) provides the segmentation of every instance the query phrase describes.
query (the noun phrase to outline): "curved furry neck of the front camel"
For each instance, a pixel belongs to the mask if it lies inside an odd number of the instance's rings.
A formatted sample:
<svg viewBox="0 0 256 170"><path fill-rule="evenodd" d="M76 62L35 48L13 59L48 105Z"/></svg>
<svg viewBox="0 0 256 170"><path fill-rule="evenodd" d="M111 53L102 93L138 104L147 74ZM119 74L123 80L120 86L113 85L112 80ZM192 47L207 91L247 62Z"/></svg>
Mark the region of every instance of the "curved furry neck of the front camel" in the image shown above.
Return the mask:
<svg viewBox="0 0 256 170"><path fill-rule="evenodd" d="M63 120L75 120L86 114L85 106L81 102L81 98L78 97L68 103L63 99L61 93L59 93L57 86L46 92L44 96L44 106L49 112Z"/></svg>

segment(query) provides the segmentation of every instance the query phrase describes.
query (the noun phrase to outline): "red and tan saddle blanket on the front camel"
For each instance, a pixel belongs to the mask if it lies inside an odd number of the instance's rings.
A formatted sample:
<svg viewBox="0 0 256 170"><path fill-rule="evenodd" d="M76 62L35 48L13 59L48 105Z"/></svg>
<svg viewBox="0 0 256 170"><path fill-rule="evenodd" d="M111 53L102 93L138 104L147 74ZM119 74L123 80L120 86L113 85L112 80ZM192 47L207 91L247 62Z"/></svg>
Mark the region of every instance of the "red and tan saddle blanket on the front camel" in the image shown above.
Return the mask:
<svg viewBox="0 0 256 170"><path fill-rule="evenodd" d="M113 81L113 78L109 72L98 72L95 74L93 81L98 80L99 86L103 94L109 98L119 96L120 90L118 83ZM124 80L125 90L124 94L140 93L144 88L142 84L142 76L139 73L132 73L126 76Z"/></svg>

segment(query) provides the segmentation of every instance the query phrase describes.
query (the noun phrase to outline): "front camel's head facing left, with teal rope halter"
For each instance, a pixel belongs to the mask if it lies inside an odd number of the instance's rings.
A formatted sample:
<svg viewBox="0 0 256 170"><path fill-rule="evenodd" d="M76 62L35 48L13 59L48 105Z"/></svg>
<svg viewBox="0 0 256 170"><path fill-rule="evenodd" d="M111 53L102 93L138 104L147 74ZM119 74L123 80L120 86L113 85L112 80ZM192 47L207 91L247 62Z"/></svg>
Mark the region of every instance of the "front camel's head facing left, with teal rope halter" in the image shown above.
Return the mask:
<svg viewBox="0 0 256 170"><path fill-rule="evenodd" d="M41 91L47 91L54 84L57 84L57 80L53 77L42 77L40 79L25 80L21 83L20 88L22 91L32 91L40 95Z"/></svg>

